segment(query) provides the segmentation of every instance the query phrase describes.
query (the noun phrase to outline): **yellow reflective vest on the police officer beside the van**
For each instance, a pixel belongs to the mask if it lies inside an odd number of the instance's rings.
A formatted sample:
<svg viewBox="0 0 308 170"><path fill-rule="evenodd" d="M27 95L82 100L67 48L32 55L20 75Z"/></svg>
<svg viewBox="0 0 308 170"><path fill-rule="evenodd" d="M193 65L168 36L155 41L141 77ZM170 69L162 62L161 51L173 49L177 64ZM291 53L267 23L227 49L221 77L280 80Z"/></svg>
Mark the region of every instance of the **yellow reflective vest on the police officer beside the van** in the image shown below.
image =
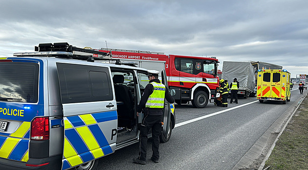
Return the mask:
<svg viewBox="0 0 308 170"><path fill-rule="evenodd" d="M147 108L164 108L165 103L165 85L161 83L150 83L154 87L153 93L149 96L146 107Z"/></svg>

